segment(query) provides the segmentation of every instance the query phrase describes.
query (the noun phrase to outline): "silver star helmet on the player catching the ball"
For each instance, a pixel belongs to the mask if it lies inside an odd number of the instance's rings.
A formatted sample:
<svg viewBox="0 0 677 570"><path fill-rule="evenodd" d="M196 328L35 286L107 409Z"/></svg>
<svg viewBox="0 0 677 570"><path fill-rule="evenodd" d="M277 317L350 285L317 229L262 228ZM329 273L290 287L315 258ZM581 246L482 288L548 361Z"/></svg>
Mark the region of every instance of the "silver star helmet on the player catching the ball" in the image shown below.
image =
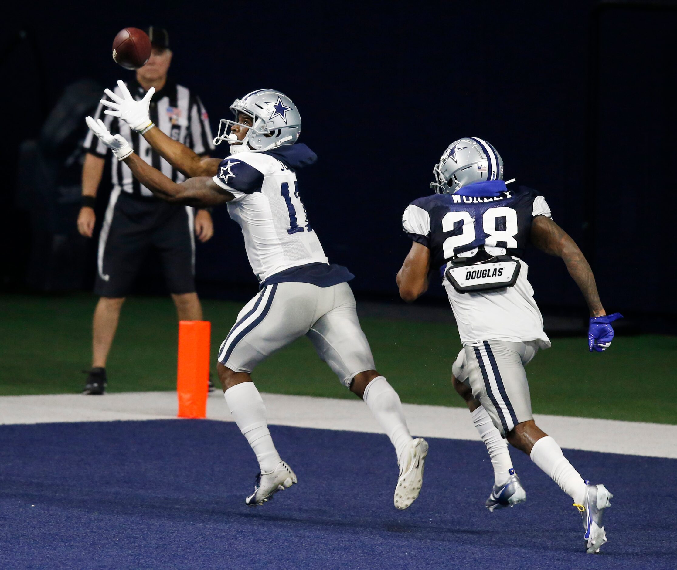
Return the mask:
<svg viewBox="0 0 677 570"><path fill-rule="evenodd" d="M236 99L230 106L235 120L222 118L214 144L228 141L231 152L253 150L263 152L283 144L294 144L301 134L301 115L289 97L274 89L259 89ZM238 114L246 113L253 121L251 127L238 123ZM230 133L234 125L249 129L246 137L239 141ZM223 132L221 132L223 131Z"/></svg>

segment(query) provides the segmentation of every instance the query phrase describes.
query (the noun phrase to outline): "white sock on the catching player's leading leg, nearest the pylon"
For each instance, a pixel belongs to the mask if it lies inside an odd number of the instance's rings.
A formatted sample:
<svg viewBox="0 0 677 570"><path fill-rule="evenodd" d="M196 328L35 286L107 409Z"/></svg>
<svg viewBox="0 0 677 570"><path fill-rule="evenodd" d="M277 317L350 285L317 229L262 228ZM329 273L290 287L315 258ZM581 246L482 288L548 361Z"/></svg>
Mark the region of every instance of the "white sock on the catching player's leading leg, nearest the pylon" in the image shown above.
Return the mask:
<svg viewBox="0 0 677 570"><path fill-rule="evenodd" d="M223 395L238 428L256 454L261 473L274 470L280 462L280 455L270 437L265 405L254 382L236 384Z"/></svg>

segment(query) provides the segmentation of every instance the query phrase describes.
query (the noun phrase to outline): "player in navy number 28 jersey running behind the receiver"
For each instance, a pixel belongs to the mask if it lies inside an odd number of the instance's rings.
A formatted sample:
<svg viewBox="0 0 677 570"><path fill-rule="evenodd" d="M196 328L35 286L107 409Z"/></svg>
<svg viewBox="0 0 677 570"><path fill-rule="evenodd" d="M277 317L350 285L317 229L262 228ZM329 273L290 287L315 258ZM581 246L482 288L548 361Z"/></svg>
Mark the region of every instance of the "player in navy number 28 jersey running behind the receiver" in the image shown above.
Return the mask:
<svg viewBox="0 0 677 570"><path fill-rule="evenodd" d="M524 186L508 190L503 161L491 144L476 137L454 141L433 172L436 193L404 211L403 229L413 243L397 285L402 299L414 301L427 290L431 269L443 266L463 343L452 381L494 465L494 487L485 504L493 511L526 498L504 437L573 498L586 529L586 552L598 552L607 541L602 518L611 493L584 481L531 414L524 366L539 349L550 347L550 339L521 259L527 243L567 265L590 309L591 352L609 347L611 322L621 315L605 312L590 265L552 221L545 198Z"/></svg>

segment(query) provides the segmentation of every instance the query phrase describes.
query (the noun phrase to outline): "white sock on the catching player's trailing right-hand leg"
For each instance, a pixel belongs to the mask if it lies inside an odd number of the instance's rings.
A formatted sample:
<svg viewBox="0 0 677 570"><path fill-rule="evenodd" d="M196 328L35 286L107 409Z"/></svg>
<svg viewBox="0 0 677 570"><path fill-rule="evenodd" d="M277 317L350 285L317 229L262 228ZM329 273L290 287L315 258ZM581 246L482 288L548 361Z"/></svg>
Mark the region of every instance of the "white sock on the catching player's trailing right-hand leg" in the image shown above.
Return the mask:
<svg viewBox="0 0 677 570"><path fill-rule="evenodd" d="M401 460L412 442L412 436L404 420L402 403L397 392L389 385L385 376L376 376L364 389L364 403L374 414L378 424L387 433L390 441L395 445L397 463Z"/></svg>

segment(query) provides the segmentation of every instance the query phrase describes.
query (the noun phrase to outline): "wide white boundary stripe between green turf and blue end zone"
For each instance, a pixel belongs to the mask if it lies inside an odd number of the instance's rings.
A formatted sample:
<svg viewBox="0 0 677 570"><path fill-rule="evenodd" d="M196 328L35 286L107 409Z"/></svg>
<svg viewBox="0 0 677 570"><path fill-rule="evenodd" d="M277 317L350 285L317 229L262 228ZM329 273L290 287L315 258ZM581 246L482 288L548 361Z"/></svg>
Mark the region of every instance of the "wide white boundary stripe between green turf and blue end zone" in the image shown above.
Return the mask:
<svg viewBox="0 0 677 570"><path fill-rule="evenodd" d="M382 433L357 399L262 394L271 425ZM479 441L465 408L403 404L413 435ZM0 397L0 424L110 422L176 418L176 392L105 396L57 394ZM677 458L677 426L537 414L536 422L562 447L648 457ZM232 422L221 391L207 399L207 418Z"/></svg>

